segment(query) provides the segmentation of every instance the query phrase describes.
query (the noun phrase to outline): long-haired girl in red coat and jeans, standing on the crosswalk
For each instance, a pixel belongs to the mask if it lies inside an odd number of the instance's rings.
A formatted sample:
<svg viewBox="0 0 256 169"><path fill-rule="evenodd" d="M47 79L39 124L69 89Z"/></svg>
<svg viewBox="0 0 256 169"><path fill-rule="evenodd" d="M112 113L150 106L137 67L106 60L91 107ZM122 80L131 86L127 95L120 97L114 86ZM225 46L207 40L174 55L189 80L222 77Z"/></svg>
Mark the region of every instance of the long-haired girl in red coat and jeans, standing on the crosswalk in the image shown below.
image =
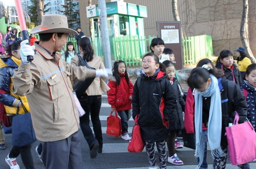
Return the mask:
<svg viewBox="0 0 256 169"><path fill-rule="evenodd" d="M128 134L128 120L131 117L133 84L129 80L125 63L116 60L112 70L113 76L110 77L108 86L108 103L112 111L117 111L121 118L122 139L130 140Z"/></svg>

